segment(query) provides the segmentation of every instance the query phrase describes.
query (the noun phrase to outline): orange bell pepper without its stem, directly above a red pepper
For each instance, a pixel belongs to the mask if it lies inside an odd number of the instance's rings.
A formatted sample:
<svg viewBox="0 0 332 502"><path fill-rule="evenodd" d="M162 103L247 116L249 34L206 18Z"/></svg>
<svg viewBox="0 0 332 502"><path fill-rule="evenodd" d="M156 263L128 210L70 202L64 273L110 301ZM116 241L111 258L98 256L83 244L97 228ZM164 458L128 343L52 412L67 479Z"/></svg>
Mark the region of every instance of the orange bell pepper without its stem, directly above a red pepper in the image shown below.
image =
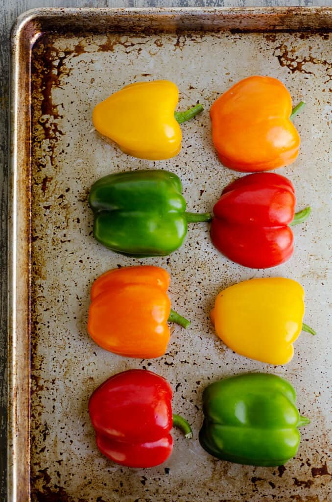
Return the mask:
<svg viewBox="0 0 332 502"><path fill-rule="evenodd" d="M233 85L210 110L221 162L243 172L269 171L294 162L300 138L291 113L290 94L276 78L252 76Z"/></svg>

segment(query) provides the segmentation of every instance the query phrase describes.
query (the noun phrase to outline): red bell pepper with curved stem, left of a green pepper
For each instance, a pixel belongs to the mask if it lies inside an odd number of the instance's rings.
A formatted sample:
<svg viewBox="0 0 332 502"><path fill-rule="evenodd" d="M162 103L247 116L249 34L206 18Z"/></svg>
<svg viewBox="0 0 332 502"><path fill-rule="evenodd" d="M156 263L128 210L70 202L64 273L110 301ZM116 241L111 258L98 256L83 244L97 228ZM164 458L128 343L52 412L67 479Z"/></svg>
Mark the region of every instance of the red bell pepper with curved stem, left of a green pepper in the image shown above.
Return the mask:
<svg viewBox="0 0 332 502"><path fill-rule="evenodd" d="M89 414L101 453L127 467L153 467L167 460L173 449L173 425L192 437L188 422L172 415L170 384L144 369L106 380L91 395Z"/></svg>

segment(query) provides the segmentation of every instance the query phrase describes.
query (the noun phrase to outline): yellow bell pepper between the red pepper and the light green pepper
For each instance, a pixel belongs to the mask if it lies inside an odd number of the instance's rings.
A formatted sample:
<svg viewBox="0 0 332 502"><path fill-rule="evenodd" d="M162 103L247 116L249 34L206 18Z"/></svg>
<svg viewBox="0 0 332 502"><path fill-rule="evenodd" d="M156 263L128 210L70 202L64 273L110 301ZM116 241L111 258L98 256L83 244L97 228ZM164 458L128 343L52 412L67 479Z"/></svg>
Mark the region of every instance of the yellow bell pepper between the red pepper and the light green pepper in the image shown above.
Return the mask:
<svg viewBox="0 0 332 502"><path fill-rule="evenodd" d="M270 364L286 364L301 330L304 291L282 277L251 279L225 289L216 298L211 321L217 335L238 354Z"/></svg>

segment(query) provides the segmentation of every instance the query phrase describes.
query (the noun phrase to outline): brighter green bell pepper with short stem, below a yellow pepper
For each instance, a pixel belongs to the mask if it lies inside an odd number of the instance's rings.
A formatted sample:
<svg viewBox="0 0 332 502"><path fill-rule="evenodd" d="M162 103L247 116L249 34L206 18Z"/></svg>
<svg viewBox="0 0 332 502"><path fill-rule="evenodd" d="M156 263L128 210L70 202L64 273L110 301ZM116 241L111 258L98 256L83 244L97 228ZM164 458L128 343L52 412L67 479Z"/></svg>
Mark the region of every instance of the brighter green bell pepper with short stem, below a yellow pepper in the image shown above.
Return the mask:
<svg viewBox="0 0 332 502"><path fill-rule="evenodd" d="M199 440L211 455L238 464L283 465L300 442L293 387L280 376L245 373L211 384L203 393Z"/></svg>

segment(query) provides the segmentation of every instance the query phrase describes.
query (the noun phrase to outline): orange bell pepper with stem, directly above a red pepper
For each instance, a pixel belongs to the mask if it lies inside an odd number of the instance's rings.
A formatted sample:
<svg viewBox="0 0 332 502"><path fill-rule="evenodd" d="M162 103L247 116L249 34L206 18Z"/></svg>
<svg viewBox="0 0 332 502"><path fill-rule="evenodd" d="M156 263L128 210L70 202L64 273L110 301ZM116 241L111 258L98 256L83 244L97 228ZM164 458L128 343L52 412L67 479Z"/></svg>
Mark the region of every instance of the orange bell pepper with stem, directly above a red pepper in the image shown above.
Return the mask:
<svg viewBox="0 0 332 502"><path fill-rule="evenodd" d="M171 311L170 281L167 271L148 265L113 269L98 277L91 288L91 338L126 357L164 354L171 336L168 320L184 327L190 324Z"/></svg>

